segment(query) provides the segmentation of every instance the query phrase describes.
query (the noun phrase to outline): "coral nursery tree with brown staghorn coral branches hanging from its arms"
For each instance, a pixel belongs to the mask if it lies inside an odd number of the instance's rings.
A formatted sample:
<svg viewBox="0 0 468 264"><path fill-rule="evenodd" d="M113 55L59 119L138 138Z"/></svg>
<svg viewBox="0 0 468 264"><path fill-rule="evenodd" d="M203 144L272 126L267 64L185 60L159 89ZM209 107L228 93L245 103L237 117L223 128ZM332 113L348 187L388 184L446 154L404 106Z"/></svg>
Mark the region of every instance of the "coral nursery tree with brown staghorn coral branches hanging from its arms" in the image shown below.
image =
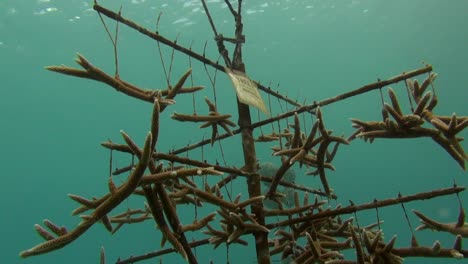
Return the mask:
<svg viewBox="0 0 468 264"><path fill-rule="evenodd" d="M80 69L67 66L47 67L50 71L105 83L127 96L150 103L153 107L149 132L143 144L137 144L123 131L121 134L124 143L110 140L102 143L103 147L111 150L111 157L112 152L123 152L138 161L125 168L113 170L111 159L108 193L98 198L70 195L70 198L80 205L73 211L73 215L85 213L80 215L81 222L72 229L56 225L49 220L44 220L45 227L35 225L36 231L45 241L22 251L21 257L45 254L65 247L97 223L102 223L109 232L115 233L123 225L145 221L156 223L158 229L152 231L162 233L161 244L167 247L141 256L122 256L116 263L135 263L170 253L180 254L189 263L198 263L194 248L211 244L219 250L219 246L229 244L246 245L249 236L255 241L258 263L271 263L273 256L278 256L286 262L328 264L401 263L403 258L410 257L468 257L468 251L462 247L462 240L468 236L468 229L459 197L464 187L454 184L449 188L384 197L363 204L351 203L349 206L333 207L329 203L339 194L335 193L328 183L327 172L334 170L332 162L339 146L349 145L357 139L372 143L381 138L428 138L427 141L433 141L443 148L447 155L453 158L454 164L465 170L468 156L460 144L462 138L459 135L468 126L468 117L436 114L438 99L434 80L437 74L433 72L432 66L426 65L323 101L301 105L247 76L247 67L242 57L243 44L246 42L243 33L242 1L231 3L225 0L235 21L231 37L217 31L216 21L212 19L205 1L202 0L201 3L214 34L219 52L218 61L208 58L205 51L197 53L191 47L171 41L158 31L148 30L125 18L120 11L112 11L95 1L94 10L102 19L113 43L115 74L112 76L105 73L82 55L78 55L76 59ZM114 34L106 26L106 19L117 22ZM214 98L203 99L198 95L203 86L185 85L191 78L191 68L177 83L171 85L168 75L171 73L172 64L178 63L176 61L171 60L167 70L161 57L167 82L167 88L162 90L143 89L121 78L117 60L119 25L150 38L157 43L160 52L161 46L167 46L172 49L173 55L184 54L189 58L190 66L192 63L199 63L205 69L214 68L217 72L225 73L236 90L237 100L233 99L230 102L236 104L237 113L223 113L223 105L217 103L216 93ZM208 75L208 70L206 72ZM423 76L423 81L416 79L419 76ZM208 77L215 89L216 77ZM408 111L400 105L397 92L388 87L398 82L404 83L407 88L401 93L407 95L410 100ZM325 121L325 106L330 107L335 102L379 89L382 92L380 120L363 121L352 118L352 125L356 129L354 133L348 137L332 134ZM191 94L194 104L195 101L206 103L208 112L197 113L202 111L195 111L195 106L191 114L176 112L178 104L175 97L183 94ZM283 111L275 116L265 115L264 119L253 122L251 114L255 111L252 110L258 109L268 113L272 109L271 100L265 104L262 94L268 98L275 98L274 101L277 101L279 106L287 104L289 109L292 107L293 110ZM168 109L172 111L172 120L161 118L163 115L169 115L169 111L166 111ZM305 116L307 120L313 120L312 124L307 125ZM237 122L232 121L233 117L237 117ZM163 124L163 120L167 123ZM172 138L161 133L161 127L170 127L173 124L171 122L186 122L187 124L183 125L190 129L197 129L190 123L198 123L201 129L209 130L210 138L179 146L179 149L167 153L162 152L158 148L158 142ZM269 133L264 133L264 130L270 128ZM189 158L187 155L196 149L203 150L212 148L214 144L221 145L228 138L242 143L241 146L238 145L239 149L230 151L242 155L243 164L227 162L221 165L217 160L210 162L203 156ZM186 140L193 142L191 133L187 133ZM180 138L174 144L178 142ZM274 175L263 175L265 170L258 164L256 149L265 147L272 147L273 155L277 156L281 164L275 168ZM308 168L307 174L317 176L321 185L300 185L294 179L288 178L288 171L294 166ZM122 184L117 185L113 180L114 175L125 174L128 177ZM248 197L233 197L230 188L226 188L233 182L244 186ZM262 192L262 186L268 187L266 192ZM313 199L309 199L311 195L314 196ZM414 233L410 246L398 247L395 236L384 239L380 220L368 226L360 226L354 217L347 217L359 211L392 205L403 206L404 209L408 202L444 195L458 197L460 211L454 223L438 222L416 210L413 210L413 213L422 223L417 230L432 229L450 233L455 241L452 247L443 247L436 239L432 245L420 245ZM140 208L116 212L117 207L130 196L142 197L145 202ZM266 206L267 204L270 206ZM203 207L211 213L202 218L184 219L180 214L187 207ZM404 213L408 218L406 210ZM250 247L248 249L253 250ZM101 263L105 263L103 250Z"/></svg>

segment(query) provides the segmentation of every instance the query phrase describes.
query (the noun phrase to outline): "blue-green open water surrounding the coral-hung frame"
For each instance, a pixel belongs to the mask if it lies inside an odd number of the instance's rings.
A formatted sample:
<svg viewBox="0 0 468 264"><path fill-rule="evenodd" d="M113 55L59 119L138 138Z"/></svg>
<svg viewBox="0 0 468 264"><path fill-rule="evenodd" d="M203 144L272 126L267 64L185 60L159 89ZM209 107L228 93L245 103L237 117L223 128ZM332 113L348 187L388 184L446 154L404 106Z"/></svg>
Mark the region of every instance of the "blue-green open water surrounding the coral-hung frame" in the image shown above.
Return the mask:
<svg viewBox="0 0 468 264"><path fill-rule="evenodd" d="M222 1L208 1L218 31L232 35L233 21ZM100 1L101 4L155 29L162 12L159 31L170 39L202 52L208 41L207 55L216 60L212 32L198 1ZM74 66L76 52L96 66L113 73L113 53L91 1L11 1L0 2L0 259L2 263L97 263L99 249L106 248L108 263L118 256L143 254L159 248L160 235L153 223L127 226L109 235L102 226L66 248L45 256L20 259L18 253L41 240L33 225L48 218L69 229L79 219L70 216L76 204L68 193L86 197L107 192L109 153L99 146L112 139L122 142L124 129L142 142L149 126L151 105L128 98L101 83L54 74L47 65ZM247 42L244 60L252 79L272 87L291 98L312 102L340 94L377 78L385 79L403 71L431 63L439 74L436 89L437 113L468 112L468 2L435 1L245 1L244 28ZM113 29L114 24L108 21ZM166 63L171 50L163 48ZM164 88L165 79L154 42L121 26L119 33L120 75L123 79L148 88ZM186 56L176 55L172 74L175 82L187 68ZM211 85L201 65L192 61L193 82L207 88L200 93L197 111L206 113L202 96L213 98ZM403 85L393 85L404 101ZM216 92L220 112L235 109L234 91L218 74ZM265 100L267 97L265 97ZM272 114L281 112L274 101ZM168 109L190 113L190 96L177 98ZM326 124L336 134L352 132L349 118L380 118L379 96L372 92L345 102L324 107ZM257 120L257 113L252 112ZM261 118L265 116L261 115ZM198 132L190 124L173 124L163 118L159 149L167 151L195 142L208 131ZM310 120L308 120L310 125ZM310 127L309 127L310 128ZM258 131L257 131L258 132ZM258 133L257 133L258 135ZM462 136L467 136L464 132ZM463 143L466 148L468 145ZM259 159L278 163L271 157L271 145L260 145ZM225 159L240 166L239 138L223 143ZM204 158L223 163L219 146L206 148ZM190 157L200 158L201 152ZM115 166L128 164L129 158L115 157ZM348 204L394 197L398 192L412 194L452 185L453 180L466 185L467 175L434 142L421 140L377 140L372 145L354 141L342 147L335 158L336 172L329 181L339 200ZM319 187L317 179L303 176L296 168L298 181ZM243 181L233 187L247 197ZM468 195L461 198L466 201ZM465 202L466 204L466 202ZM141 206L132 198L123 205ZM414 202L407 209L418 209L443 222L455 221L456 197ZM189 207L183 221L192 219ZM206 211L206 212L205 212ZM210 210L200 211L208 213ZM358 214L360 224L375 221L375 212ZM386 239L398 234L398 245L409 245L409 231L400 206L380 210L385 220ZM410 214L413 226L417 219ZM429 231L417 233L421 244L435 239L449 247L453 238ZM231 263L255 263L253 241L249 247L230 248ZM211 246L197 249L201 263L226 262L224 249ZM247 259L247 260L245 260ZM430 260L449 263L447 260ZM156 260L147 263L155 263ZM164 263L180 263L168 256ZM452 261L454 262L454 261ZM407 259L405 263L427 263Z"/></svg>

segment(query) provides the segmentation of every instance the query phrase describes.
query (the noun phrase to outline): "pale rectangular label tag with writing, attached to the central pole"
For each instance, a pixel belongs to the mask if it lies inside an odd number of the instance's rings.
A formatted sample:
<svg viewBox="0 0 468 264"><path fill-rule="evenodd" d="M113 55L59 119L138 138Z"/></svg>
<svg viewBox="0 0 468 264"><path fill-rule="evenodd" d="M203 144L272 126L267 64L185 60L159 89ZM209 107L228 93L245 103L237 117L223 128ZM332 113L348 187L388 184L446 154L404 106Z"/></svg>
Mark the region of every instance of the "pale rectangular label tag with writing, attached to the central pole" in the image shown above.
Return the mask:
<svg viewBox="0 0 468 264"><path fill-rule="evenodd" d="M225 68L226 73L229 75L229 78L234 85L234 89L237 93L237 98L241 103L256 107L263 113L269 115L263 99L258 92L257 84L250 80L249 77L243 72L231 70Z"/></svg>

